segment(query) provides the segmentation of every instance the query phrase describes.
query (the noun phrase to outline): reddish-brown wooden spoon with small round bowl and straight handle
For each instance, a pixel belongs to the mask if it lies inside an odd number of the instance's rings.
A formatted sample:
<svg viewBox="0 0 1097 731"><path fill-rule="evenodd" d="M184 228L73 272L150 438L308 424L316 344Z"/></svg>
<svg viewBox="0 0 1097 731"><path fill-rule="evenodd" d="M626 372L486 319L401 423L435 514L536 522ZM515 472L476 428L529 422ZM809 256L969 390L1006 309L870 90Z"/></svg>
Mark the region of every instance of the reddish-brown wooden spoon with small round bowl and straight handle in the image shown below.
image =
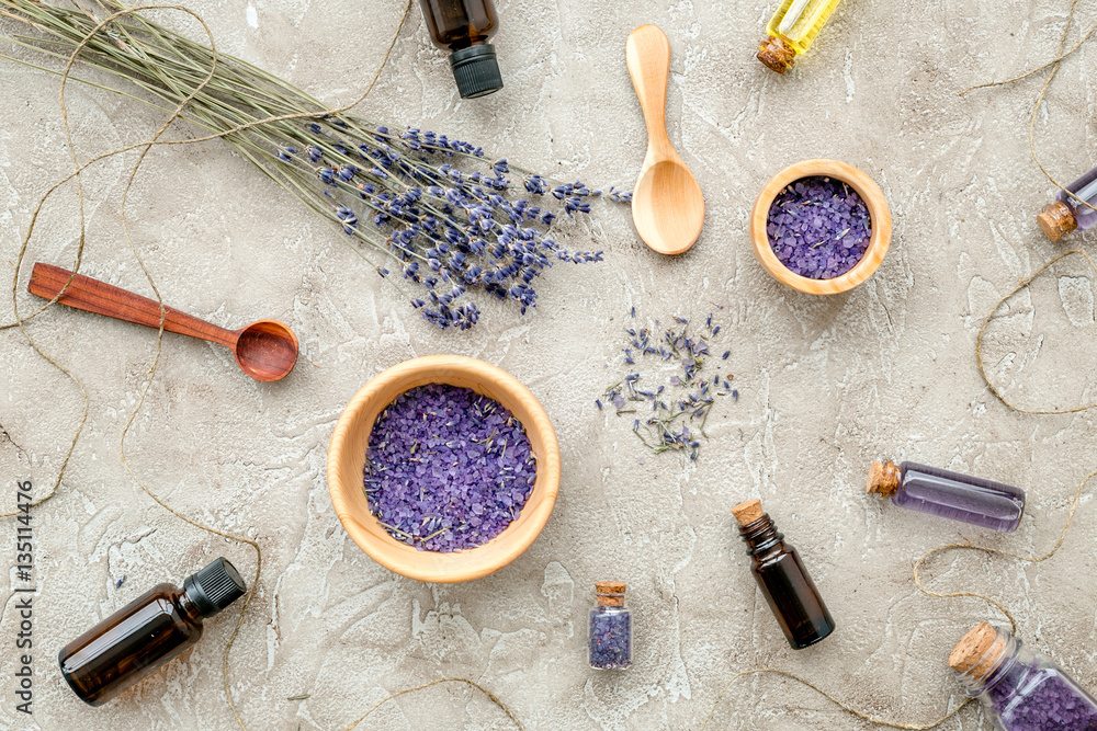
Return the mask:
<svg viewBox="0 0 1097 731"><path fill-rule="evenodd" d="M160 305L155 300L82 274L77 274L66 287L70 276L72 272L66 269L38 262L31 272L26 289L32 295L53 299L64 288L65 294L57 299L61 305L149 328L160 327ZM236 355L240 369L256 380L284 378L297 362L297 338L289 325L278 320L259 320L240 330L226 330L165 307L163 329L227 346Z"/></svg>

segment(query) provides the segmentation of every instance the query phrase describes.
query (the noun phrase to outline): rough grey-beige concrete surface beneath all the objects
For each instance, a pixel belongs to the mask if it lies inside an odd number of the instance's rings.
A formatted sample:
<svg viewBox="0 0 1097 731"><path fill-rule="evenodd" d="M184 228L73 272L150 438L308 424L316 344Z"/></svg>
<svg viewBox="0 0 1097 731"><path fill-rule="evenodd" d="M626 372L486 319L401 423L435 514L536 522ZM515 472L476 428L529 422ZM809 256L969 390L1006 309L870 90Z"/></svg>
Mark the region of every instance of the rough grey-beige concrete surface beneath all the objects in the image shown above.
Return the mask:
<svg viewBox="0 0 1097 731"><path fill-rule="evenodd" d="M189 3L219 47L331 103L357 96L381 60L399 3L261 0ZM868 712L908 723L938 718L960 692L945 659L971 625L1000 617L985 602L936 599L911 567L939 544L970 539L1020 553L1054 541L1078 480L1095 466L1094 412L1009 412L975 369L984 315L1063 250L1034 215L1051 199L1032 163L1028 115L1041 81L958 92L1053 56L1068 3L844 3L816 46L780 78L754 59L771 2L499 2L506 89L461 102L444 56L411 18L362 113L487 145L528 168L599 185L631 185L645 133L624 66L629 32L670 37L671 139L701 182L704 233L678 259L649 252L622 206L596 206L564 240L602 248L600 265L557 266L535 311L484 307L468 333L439 332L314 220L220 144L160 149L133 193L131 230L165 299L214 322L289 322L302 343L295 372L252 382L227 351L168 335L159 373L127 441L140 478L174 509L253 537L263 574L230 655L233 692L249 729L336 729L388 693L467 676L529 729L694 729L737 670L793 671ZM1082 3L1078 25L1097 11ZM184 24L181 19L172 22ZM11 32L10 23L2 23ZM193 24L184 25L193 30ZM195 32L196 33L196 32ZM1072 38L1078 37L1077 30ZM1073 42L1072 42L1073 43ZM33 55L0 44L2 53ZM1097 47L1068 60L1037 117L1048 168L1063 182L1094 162ZM81 158L147 137L149 110L71 87ZM57 80L0 62L0 269L11 276L30 214L70 170ZM877 275L845 296L801 296L757 264L747 238L756 192L787 164L832 157L882 187L894 217ZM118 221L133 158L86 180L83 271L150 294ZM69 265L78 218L71 189L44 214L20 271ZM1072 243L1092 245L1092 236ZM10 320L7 295L0 317ZM645 455L631 423L593 399L623 372L629 308L640 317L717 321L742 393L708 422L697 465ZM155 333L56 307L27 325L87 387L88 425L56 498L36 511L38 536L32 722L13 711L12 647L0 615L0 729L231 729L220 658L235 623L210 623L184 659L110 705L84 707L54 658L84 628L151 584L181 581L215 556L251 575L255 555L188 526L126 475L118 437L151 363ZM1024 404L1097 398L1092 273L1067 260L1009 304L988 361ZM81 413L77 387L18 330L0 332L0 505L14 480L53 483ZM551 414L564 483L541 538L497 574L431 586L376 566L339 525L325 483L328 438L342 406L371 376L408 357L462 353L523 380ZM869 462L909 458L1009 481L1028 491L1014 535L920 516L863 494ZM728 509L760 496L801 551L838 621L815 648L785 644L747 571ZM0 532L14 533L11 518ZM1020 635L1097 686L1093 594L1097 516L1083 498L1053 560L948 555L930 566L937 591L980 591L1015 613ZM15 585L11 537L0 596ZM115 589L122 575L125 583ZM635 666L586 666L593 582L630 584ZM309 694L306 700L286 700ZM772 676L740 681L716 710L719 729L869 728L815 693ZM987 728L969 707L941 726ZM456 686L385 705L360 728L505 729L501 712Z"/></svg>

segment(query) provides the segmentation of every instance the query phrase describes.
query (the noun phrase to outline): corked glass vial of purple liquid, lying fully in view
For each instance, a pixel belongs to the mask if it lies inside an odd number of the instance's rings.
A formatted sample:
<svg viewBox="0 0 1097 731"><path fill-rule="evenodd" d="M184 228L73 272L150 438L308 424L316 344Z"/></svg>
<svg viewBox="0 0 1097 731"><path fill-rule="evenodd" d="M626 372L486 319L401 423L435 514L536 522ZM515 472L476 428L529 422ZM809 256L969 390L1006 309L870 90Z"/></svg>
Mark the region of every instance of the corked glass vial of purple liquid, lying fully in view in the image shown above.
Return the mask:
<svg viewBox="0 0 1097 731"><path fill-rule="evenodd" d="M1020 488L915 462L872 462L867 489L901 507L1006 533L1025 512Z"/></svg>

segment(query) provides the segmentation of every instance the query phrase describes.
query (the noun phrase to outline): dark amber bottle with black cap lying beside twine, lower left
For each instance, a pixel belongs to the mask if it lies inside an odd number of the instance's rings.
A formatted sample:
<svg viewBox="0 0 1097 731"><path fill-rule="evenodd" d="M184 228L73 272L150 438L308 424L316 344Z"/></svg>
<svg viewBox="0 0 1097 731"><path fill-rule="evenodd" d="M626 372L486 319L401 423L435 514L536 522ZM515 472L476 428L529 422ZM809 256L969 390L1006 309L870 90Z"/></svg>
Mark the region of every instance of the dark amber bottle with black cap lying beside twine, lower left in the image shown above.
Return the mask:
<svg viewBox="0 0 1097 731"><path fill-rule="evenodd" d="M220 558L178 589L158 584L66 644L61 675L80 699L102 706L202 637L202 619L244 596L247 586Z"/></svg>

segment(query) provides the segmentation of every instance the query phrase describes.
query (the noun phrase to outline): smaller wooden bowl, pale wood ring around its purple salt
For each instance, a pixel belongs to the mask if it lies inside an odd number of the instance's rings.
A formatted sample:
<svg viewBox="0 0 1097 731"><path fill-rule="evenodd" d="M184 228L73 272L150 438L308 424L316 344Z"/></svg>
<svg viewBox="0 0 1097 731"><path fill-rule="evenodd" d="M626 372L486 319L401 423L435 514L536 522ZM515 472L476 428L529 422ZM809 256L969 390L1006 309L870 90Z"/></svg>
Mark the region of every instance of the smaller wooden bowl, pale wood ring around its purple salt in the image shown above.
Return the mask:
<svg viewBox="0 0 1097 731"><path fill-rule="evenodd" d="M841 276L832 279L811 279L791 272L773 253L773 248L769 243L769 233L766 230L773 198L789 183L801 178L816 175L835 178L857 191L869 209L869 218L872 222L869 245L864 250L861 261ZM754 243L755 256L758 258L766 271L781 284L808 295L836 295L839 292L852 289L868 279L884 260L884 254L887 253L887 247L891 244L891 210L887 208L887 201L884 199L880 186L853 165L837 160L804 160L777 173L761 189L755 199L754 209L750 212L750 241Z"/></svg>

